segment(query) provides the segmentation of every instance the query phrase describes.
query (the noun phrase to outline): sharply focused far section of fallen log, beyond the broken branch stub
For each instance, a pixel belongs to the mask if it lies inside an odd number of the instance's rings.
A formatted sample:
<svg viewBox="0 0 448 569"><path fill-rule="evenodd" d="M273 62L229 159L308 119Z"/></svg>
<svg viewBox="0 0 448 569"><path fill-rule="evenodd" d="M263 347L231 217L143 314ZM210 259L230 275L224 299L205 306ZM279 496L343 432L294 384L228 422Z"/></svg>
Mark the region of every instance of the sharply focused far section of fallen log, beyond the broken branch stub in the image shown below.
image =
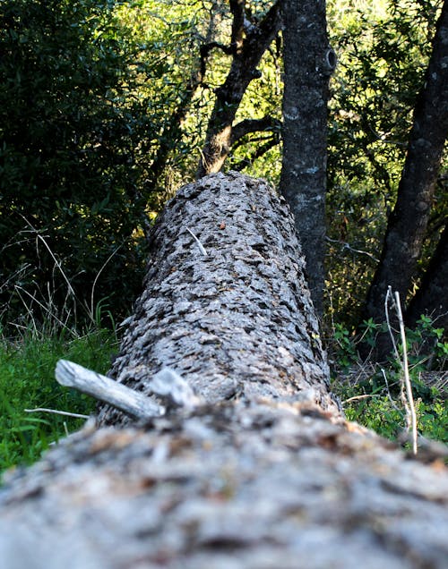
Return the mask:
<svg viewBox="0 0 448 569"><path fill-rule="evenodd" d="M185 186L150 251L111 377L148 393L168 366L211 403L262 395L335 407L289 208L267 183L231 173Z"/></svg>

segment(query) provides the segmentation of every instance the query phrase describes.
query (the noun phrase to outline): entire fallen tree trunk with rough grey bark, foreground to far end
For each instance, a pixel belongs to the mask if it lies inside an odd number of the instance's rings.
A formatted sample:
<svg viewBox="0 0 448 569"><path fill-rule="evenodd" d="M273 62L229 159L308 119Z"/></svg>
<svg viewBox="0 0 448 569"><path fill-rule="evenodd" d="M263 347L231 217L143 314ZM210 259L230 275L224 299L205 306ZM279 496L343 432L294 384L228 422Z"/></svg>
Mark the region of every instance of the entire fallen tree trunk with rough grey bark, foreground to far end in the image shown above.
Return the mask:
<svg viewBox="0 0 448 569"><path fill-rule="evenodd" d="M95 386L122 411L103 406L5 477L1 566L445 567L444 463L344 420L293 222L267 184L186 186L152 249L109 374L123 389ZM58 375L83 389L98 378L66 362Z"/></svg>

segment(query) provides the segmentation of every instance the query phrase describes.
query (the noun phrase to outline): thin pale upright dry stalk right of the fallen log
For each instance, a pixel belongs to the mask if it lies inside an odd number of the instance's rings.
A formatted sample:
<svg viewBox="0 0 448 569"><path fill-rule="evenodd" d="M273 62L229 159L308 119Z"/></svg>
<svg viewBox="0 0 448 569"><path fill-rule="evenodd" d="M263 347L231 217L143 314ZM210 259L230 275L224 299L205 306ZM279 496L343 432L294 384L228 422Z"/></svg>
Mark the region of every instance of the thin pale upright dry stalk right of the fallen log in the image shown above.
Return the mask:
<svg viewBox="0 0 448 569"><path fill-rule="evenodd" d="M388 308L388 301L392 299L394 304L399 326L400 326L400 335L401 335L401 344L403 346L403 357L401 362L401 369L403 371L403 378L404 378L404 386L406 387L406 395L405 389L403 387L403 380L401 381L401 401L403 402L403 406L406 411L406 425L407 430L411 432L411 439L412 439L412 452L417 454L418 452L418 432L417 432L417 413L414 404L414 397L412 395L412 386L410 384L409 378L409 363L408 363L408 350L407 350L407 343L406 343L406 332L404 329L404 321L403 321L403 314L401 312L401 302L400 302L400 293L395 292L394 298L392 297L392 288L389 286L386 293L386 298L384 301L384 308L386 314L386 321L387 327L389 329L389 334L391 335L393 350L395 355L399 361L401 361L400 353L398 352L397 344L395 343L395 338L393 337L391 322L389 319L389 308Z"/></svg>

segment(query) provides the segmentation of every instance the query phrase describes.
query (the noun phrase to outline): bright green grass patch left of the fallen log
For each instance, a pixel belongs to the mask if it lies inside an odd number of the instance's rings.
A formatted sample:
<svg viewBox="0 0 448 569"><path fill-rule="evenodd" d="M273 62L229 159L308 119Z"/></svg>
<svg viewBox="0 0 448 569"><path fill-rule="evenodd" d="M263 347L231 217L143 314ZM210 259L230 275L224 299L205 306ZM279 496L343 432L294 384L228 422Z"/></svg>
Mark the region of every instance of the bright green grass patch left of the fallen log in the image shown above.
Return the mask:
<svg viewBox="0 0 448 569"><path fill-rule="evenodd" d="M57 384L56 361L65 358L105 373L116 350L116 337L107 330L75 338L34 333L0 340L0 473L35 462L51 443L84 422L24 409L45 407L86 415L94 410L93 399Z"/></svg>

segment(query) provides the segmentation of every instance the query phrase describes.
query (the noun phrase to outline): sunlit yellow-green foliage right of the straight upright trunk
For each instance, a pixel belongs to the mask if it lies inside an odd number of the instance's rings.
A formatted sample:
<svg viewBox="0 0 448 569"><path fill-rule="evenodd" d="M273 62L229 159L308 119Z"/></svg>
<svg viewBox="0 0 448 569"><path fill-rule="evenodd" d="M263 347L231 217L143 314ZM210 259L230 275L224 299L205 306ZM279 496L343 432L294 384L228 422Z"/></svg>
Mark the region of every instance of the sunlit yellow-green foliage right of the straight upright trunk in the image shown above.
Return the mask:
<svg viewBox="0 0 448 569"><path fill-rule="evenodd" d="M340 61L330 101L327 294L347 325L358 321L381 254L441 4L392 0L383 14L363 6L342 21L331 13ZM446 167L445 155L415 285L444 228Z"/></svg>

